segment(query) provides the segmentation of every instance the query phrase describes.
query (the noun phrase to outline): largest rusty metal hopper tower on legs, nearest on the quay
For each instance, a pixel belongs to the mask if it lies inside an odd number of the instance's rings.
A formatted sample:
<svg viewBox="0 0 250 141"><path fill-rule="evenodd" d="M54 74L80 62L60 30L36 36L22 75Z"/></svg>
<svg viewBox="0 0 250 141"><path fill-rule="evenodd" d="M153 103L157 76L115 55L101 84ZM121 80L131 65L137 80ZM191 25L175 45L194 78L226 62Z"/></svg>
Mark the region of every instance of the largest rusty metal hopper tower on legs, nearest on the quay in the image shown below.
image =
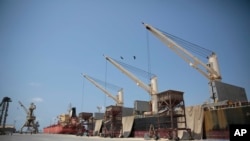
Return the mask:
<svg viewBox="0 0 250 141"><path fill-rule="evenodd" d="M186 130L192 138L191 130L187 128L183 94L176 90L167 90L158 94L158 117L168 117L164 121L158 118L158 129L167 129L166 136L170 139L178 139L178 130ZM178 127L180 124L184 126Z"/></svg>

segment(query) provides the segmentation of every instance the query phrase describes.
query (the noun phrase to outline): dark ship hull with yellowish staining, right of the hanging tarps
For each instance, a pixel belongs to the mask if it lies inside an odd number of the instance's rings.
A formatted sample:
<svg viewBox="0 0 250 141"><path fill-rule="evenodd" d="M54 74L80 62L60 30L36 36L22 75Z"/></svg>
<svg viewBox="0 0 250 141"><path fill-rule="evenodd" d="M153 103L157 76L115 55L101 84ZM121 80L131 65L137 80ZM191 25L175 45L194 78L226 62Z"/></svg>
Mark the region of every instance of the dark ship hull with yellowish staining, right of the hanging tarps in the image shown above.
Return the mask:
<svg viewBox="0 0 250 141"><path fill-rule="evenodd" d="M229 139L230 125L250 125L250 105L204 111L204 138Z"/></svg>

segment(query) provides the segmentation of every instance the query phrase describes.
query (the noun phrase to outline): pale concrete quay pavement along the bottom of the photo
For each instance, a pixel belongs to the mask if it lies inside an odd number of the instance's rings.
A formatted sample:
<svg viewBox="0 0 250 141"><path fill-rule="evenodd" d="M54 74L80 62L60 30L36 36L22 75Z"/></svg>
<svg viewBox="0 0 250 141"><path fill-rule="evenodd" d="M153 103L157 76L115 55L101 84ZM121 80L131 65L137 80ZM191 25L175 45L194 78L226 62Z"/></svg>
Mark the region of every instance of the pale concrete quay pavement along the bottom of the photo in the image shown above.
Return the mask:
<svg viewBox="0 0 250 141"><path fill-rule="evenodd" d="M143 141L143 138L102 138L102 137L86 137L75 135L62 135L62 134L13 134L13 135L0 135L1 141ZM160 139L160 141L167 141L167 139ZM229 140L192 140L192 141L229 141Z"/></svg>

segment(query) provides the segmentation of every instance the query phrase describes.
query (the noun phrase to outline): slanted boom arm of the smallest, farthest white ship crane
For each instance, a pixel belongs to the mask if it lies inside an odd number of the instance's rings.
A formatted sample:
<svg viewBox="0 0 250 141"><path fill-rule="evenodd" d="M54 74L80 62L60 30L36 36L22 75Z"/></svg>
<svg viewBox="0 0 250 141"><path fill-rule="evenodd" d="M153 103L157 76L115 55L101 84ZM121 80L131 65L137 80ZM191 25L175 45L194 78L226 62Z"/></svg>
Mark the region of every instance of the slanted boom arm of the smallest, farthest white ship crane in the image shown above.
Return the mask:
<svg viewBox="0 0 250 141"><path fill-rule="evenodd" d="M98 84L96 81L94 81L92 78L90 78L89 76L82 74L83 77L85 77L87 80L89 80L92 84L94 84L97 88L99 88L102 92L104 92L108 97L112 98L117 105L122 106L123 105L123 100L114 97L110 92L108 92L105 88L103 88L100 84ZM122 93L122 89L119 90L119 93ZM119 96L118 96L119 97Z"/></svg>

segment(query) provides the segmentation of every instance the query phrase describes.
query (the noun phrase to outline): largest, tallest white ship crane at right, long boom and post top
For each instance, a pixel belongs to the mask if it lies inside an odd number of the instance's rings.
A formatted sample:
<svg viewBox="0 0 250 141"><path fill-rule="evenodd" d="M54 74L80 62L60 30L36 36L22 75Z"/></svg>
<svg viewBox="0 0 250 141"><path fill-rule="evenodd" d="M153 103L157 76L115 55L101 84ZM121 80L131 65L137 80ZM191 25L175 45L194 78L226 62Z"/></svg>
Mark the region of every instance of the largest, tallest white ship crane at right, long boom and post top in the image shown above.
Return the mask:
<svg viewBox="0 0 250 141"><path fill-rule="evenodd" d="M143 23L147 30L149 30L153 35L159 38L167 47L172 49L177 55L179 55L184 61L186 61L191 67L195 68L203 76L205 76L210 82L221 81L222 77L220 74L219 64L217 56L214 52L207 56L208 63L203 63L197 57L192 55L188 50L180 46L177 42L172 40L172 38L156 29L155 27ZM215 101L214 92L212 98Z"/></svg>

